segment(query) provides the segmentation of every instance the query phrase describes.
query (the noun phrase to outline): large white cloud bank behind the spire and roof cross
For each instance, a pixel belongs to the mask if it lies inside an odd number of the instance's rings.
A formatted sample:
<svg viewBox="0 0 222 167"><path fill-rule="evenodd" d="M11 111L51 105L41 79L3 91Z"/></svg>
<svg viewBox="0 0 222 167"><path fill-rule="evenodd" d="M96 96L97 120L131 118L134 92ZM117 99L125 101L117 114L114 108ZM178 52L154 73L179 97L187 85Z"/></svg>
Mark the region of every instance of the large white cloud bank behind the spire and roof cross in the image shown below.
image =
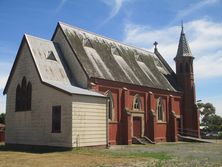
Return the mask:
<svg viewBox="0 0 222 167"><path fill-rule="evenodd" d="M222 23L202 19L184 25L194 61L195 76L198 79L222 77ZM159 51L174 68L180 27L172 26L154 29L150 26L128 24L125 27L124 42L152 49L154 41L159 42Z"/></svg>

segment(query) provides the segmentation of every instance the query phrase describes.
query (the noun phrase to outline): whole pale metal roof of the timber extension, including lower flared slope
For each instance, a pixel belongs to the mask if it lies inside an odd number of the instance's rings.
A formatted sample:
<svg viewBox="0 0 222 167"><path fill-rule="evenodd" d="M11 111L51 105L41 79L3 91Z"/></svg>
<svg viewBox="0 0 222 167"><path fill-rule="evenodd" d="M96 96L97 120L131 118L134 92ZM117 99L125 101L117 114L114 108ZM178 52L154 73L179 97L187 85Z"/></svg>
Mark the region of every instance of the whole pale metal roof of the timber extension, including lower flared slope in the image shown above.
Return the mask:
<svg viewBox="0 0 222 167"><path fill-rule="evenodd" d="M65 61L62 59L62 53L59 49L58 44L30 35L24 35L23 37L21 46L19 48L3 94L7 93L7 88L10 83L12 73L16 68L18 56L21 55L21 47L24 42L26 42L28 45L29 51L31 53L32 59L42 83L69 94L104 97L104 95L100 93L73 86L70 81L70 77L68 76L69 69L66 66Z"/></svg>

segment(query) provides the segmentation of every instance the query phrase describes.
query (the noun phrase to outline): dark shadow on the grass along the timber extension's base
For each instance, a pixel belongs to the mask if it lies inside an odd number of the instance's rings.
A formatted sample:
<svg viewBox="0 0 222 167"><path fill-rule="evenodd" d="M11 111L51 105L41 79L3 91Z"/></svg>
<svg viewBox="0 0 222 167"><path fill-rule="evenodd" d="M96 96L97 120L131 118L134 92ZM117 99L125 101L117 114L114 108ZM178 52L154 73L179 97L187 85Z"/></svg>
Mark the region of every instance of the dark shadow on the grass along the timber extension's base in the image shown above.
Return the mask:
<svg viewBox="0 0 222 167"><path fill-rule="evenodd" d="M32 145L17 145L17 144L0 145L0 151L16 151L16 152L36 153L36 154L64 152L70 150L72 149L66 147L32 146Z"/></svg>

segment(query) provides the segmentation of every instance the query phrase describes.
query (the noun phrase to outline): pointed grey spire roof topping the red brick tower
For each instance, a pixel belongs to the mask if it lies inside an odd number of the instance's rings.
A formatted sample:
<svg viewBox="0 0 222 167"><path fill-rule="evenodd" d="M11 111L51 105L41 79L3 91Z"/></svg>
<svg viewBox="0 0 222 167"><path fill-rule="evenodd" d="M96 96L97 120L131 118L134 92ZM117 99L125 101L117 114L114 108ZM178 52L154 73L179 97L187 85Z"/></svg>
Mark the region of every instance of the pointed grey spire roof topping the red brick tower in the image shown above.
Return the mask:
<svg viewBox="0 0 222 167"><path fill-rule="evenodd" d="M192 57L192 53L190 51L189 44L186 40L186 36L185 36L185 33L184 33L184 28L183 28L183 22L182 22L180 41L179 41L176 57L183 57L183 56Z"/></svg>

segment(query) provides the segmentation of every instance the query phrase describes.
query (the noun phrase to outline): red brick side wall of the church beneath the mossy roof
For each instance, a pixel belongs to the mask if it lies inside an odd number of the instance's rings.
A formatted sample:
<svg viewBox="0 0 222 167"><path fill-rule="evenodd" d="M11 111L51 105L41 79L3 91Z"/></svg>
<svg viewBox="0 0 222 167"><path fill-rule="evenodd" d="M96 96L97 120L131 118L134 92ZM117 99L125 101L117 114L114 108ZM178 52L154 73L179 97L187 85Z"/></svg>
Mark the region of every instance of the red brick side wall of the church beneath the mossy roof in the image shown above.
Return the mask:
<svg viewBox="0 0 222 167"><path fill-rule="evenodd" d="M125 83L107 81L102 79L92 79L96 86L93 89L105 93L110 90L114 100L115 119L109 122L109 143L110 144L130 144L132 138L132 116L133 100L136 94L140 95L142 111L144 111L144 134L156 142L170 140L168 136L175 135L169 128L169 97L177 97L173 110L180 113L181 93L158 90L148 87L135 86ZM127 88L127 89L125 89ZM149 92L152 92L150 99ZM157 98L162 97L164 103L164 121L158 123L156 114ZM126 112L126 110L128 112ZM152 113L152 112L153 113ZM155 116L156 114L156 116Z"/></svg>

